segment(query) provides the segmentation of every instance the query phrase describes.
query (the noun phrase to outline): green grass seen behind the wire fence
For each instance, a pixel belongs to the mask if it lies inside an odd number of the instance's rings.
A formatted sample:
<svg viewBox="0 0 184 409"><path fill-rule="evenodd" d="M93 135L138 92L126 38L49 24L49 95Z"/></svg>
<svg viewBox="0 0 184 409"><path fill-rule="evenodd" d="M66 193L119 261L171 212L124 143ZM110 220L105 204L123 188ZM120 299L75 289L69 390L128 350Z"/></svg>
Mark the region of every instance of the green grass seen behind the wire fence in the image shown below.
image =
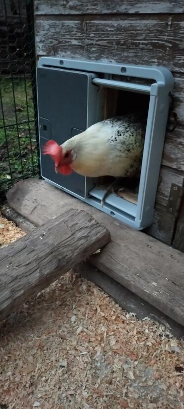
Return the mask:
<svg viewBox="0 0 184 409"><path fill-rule="evenodd" d="M1 79L0 92L0 190L6 190L18 179L38 175L38 155L31 82Z"/></svg>

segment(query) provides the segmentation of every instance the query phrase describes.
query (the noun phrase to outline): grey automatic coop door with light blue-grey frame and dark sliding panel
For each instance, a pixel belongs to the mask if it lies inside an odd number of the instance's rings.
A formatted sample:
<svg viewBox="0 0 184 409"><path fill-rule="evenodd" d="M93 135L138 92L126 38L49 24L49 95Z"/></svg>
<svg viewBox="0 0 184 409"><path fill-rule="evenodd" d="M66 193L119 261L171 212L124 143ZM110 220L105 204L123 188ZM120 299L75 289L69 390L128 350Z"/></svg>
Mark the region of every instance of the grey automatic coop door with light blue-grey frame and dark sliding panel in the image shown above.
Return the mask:
<svg viewBox="0 0 184 409"><path fill-rule="evenodd" d="M164 67L40 58L37 91L42 177L138 230L151 225L173 86L173 76ZM42 147L49 139L61 145L103 120L104 88L145 94L149 104L137 200L132 203L110 194L102 207L104 190L97 187L96 179L75 172L70 176L56 174Z"/></svg>

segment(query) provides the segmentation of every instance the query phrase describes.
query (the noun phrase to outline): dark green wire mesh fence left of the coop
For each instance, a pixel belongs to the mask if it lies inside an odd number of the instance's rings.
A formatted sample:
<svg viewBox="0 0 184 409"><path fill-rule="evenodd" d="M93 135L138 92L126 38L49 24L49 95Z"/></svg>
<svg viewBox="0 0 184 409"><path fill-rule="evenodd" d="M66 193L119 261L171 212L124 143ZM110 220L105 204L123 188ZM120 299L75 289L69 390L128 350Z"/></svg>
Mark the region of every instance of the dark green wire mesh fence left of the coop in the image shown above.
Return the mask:
<svg viewBox="0 0 184 409"><path fill-rule="evenodd" d="M0 192L39 176L33 0L0 0Z"/></svg>

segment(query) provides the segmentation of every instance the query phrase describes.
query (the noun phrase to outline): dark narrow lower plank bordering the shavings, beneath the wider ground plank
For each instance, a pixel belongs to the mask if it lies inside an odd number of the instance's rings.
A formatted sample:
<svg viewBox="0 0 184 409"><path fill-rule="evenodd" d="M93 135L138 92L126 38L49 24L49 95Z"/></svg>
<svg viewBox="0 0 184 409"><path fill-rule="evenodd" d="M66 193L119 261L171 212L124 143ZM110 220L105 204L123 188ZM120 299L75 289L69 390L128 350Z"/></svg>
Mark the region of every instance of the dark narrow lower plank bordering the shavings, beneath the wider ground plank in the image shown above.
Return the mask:
<svg viewBox="0 0 184 409"><path fill-rule="evenodd" d="M162 325L169 325L173 335L179 338L184 336L184 327L182 325L177 324L157 308L152 307L150 304L143 301L126 287L98 270L98 268L94 268L89 262L79 264L75 267L75 271L88 281L92 281L105 291L105 293L109 294L120 307L126 309L128 312L136 314L138 319L149 317Z"/></svg>

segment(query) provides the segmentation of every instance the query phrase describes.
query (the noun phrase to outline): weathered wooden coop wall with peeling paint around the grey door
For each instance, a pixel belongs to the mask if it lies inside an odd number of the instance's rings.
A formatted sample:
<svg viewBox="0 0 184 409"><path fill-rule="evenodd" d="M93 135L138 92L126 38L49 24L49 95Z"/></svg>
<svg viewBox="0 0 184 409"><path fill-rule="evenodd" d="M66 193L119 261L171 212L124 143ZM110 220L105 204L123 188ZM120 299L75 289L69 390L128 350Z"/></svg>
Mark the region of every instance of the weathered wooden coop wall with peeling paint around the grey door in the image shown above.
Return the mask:
<svg viewBox="0 0 184 409"><path fill-rule="evenodd" d="M175 235L174 246L184 251L184 206L178 224L166 210L171 184L182 186L184 177L183 13L183 0L35 0L38 57L163 65L173 72L178 125L166 135L155 222L147 231L169 245Z"/></svg>

